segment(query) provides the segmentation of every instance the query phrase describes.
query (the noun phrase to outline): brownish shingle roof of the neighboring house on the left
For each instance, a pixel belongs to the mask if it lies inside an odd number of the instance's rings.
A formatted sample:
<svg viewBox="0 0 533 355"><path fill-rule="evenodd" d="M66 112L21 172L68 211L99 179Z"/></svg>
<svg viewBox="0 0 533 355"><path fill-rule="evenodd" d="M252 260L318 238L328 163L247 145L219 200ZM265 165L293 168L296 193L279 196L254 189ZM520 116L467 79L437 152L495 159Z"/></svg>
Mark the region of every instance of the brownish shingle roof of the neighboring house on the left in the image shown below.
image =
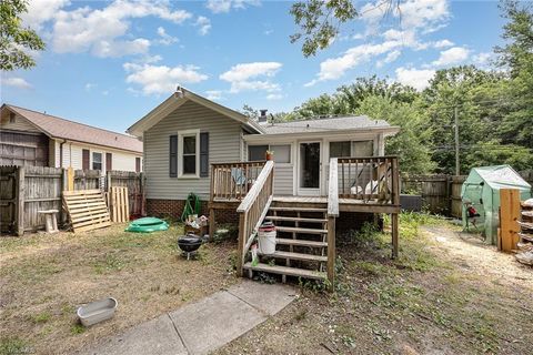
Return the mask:
<svg viewBox="0 0 533 355"><path fill-rule="evenodd" d="M99 129L12 104L3 104L1 109L2 111L10 110L23 116L37 129L53 139L63 139L142 153L142 142L132 135Z"/></svg>

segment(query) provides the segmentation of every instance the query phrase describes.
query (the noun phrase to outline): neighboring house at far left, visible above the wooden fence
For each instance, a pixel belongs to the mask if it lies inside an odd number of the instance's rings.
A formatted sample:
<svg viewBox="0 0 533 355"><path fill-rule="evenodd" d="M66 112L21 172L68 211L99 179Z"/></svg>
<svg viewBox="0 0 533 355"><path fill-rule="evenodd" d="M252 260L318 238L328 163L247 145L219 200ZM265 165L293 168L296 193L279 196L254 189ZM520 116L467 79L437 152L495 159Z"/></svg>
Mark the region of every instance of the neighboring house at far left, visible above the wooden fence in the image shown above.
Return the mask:
<svg viewBox="0 0 533 355"><path fill-rule="evenodd" d="M137 138L18 108L1 106L0 164L142 171Z"/></svg>

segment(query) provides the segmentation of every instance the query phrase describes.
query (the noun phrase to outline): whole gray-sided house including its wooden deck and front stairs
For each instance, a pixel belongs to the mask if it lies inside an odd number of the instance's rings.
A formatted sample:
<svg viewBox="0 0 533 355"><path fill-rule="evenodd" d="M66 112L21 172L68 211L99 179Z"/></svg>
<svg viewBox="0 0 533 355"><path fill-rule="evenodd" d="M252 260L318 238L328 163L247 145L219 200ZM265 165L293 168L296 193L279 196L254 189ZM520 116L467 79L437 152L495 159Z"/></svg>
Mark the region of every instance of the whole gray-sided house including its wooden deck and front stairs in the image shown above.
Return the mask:
<svg viewBox="0 0 533 355"><path fill-rule="evenodd" d="M399 162L384 155L398 131L365 115L280 123L262 112L255 121L183 88L128 129L144 144L149 214L179 217L192 192L204 202L210 234L222 221L239 223L239 275L331 283L335 225L391 214L398 255ZM275 251L252 265L248 251L264 222L276 225Z"/></svg>

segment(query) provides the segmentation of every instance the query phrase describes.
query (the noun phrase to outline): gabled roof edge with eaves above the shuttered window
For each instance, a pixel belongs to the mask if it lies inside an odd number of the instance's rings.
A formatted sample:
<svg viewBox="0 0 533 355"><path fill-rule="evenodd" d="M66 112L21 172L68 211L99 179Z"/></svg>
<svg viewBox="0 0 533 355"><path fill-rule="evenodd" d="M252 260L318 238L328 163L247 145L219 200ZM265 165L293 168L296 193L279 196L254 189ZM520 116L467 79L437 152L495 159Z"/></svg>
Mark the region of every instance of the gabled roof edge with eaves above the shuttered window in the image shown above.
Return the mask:
<svg viewBox="0 0 533 355"><path fill-rule="evenodd" d="M143 133L155 125L159 121L168 116L183 103L192 101L200 105L203 105L208 109L219 112L222 115L225 115L230 119L233 119L238 122L241 122L250 132L252 133L264 133L264 130L259 125L258 122L251 120L245 114L234 111L227 106L223 106L217 102L208 100L190 90L184 88L178 88L178 90L172 93L167 100L164 100L160 105L150 111L142 119L133 123L127 132L135 136L142 136Z"/></svg>

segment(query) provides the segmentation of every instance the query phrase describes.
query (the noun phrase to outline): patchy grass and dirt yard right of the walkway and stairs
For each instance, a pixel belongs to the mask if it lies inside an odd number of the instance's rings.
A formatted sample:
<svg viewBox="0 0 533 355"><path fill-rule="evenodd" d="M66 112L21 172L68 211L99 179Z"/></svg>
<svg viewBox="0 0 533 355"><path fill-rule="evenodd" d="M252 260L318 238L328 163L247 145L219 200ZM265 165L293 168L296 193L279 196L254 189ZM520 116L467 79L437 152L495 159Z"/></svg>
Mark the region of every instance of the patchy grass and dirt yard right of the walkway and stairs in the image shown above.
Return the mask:
<svg viewBox="0 0 533 355"><path fill-rule="evenodd" d="M217 354L532 354L533 268L451 224L401 216L389 235L338 239L338 290L314 284Z"/></svg>

